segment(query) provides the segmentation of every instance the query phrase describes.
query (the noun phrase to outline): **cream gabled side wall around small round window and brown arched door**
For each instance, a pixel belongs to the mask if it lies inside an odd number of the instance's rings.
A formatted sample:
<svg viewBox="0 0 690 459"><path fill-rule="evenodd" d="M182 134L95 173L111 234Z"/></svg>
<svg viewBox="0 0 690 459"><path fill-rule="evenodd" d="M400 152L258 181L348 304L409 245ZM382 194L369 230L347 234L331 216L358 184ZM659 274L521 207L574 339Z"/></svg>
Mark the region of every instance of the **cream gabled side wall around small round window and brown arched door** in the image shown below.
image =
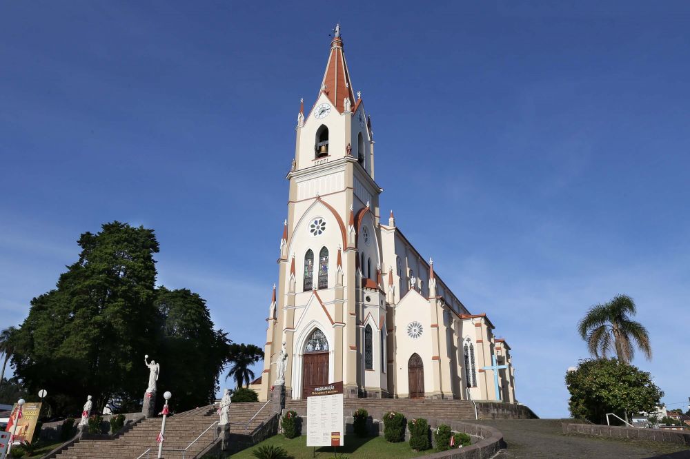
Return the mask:
<svg viewBox="0 0 690 459"><path fill-rule="evenodd" d="M424 331L419 338L411 338L407 334L407 325L413 321L422 324ZM395 306L395 365L397 367L395 391L407 396L408 371L407 364L415 352L424 363L424 391L433 391L432 345L431 345L431 306L426 298L414 291L410 291Z"/></svg>

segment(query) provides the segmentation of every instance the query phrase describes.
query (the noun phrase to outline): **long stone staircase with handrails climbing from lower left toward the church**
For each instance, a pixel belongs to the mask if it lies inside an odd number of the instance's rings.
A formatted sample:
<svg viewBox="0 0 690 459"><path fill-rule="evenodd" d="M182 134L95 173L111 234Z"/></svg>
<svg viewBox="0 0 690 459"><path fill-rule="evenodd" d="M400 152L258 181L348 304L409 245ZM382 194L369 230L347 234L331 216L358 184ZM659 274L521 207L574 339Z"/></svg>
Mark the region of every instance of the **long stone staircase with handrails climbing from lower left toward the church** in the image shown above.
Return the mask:
<svg viewBox="0 0 690 459"><path fill-rule="evenodd" d="M233 403L230 405L230 433L244 436L251 433L264 420L273 414L270 404L249 422L259 409L262 402ZM217 438L217 427L208 429L213 422L218 420L214 405L200 407L190 411L184 411L166 420L166 435L163 457L166 459L195 458L204 451ZM135 459L151 448L150 458L157 458L158 443L156 437L161 429L161 417L147 418L130 430L116 438L103 440L80 440L74 445L55 456L57 459ZM185 449L202 432L204 433L197 442L187 451L175 451ZM146 458L147 456L144 456Z"/></svg>

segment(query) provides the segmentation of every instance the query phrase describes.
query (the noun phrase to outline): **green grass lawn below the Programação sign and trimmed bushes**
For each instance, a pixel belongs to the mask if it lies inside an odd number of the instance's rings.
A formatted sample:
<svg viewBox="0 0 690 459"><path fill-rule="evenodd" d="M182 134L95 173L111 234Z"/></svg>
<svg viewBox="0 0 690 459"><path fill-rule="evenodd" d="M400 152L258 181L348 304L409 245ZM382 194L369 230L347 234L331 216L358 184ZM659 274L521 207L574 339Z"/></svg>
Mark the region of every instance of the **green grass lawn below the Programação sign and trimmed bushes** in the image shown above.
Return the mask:
<svg viewBox="0 0 690 459"><path fill-rule="evenodd" d="M345 436L345 446L337 447L338 453L346 454L352 459L364 458L416 458L417 456L424 456L424 454L432 453L433 450L428 451L413 451L408 442L388 443L383 437L369 437L357 438L353 435ZM306 446L306 436L302 435L292 440L288 440L283 435L276 435L268 440L257 443L251 448L240 451L237 454L230 456L232 459L253 459L252 451L262 445L276 445L288 451L288 454L295 459L311 459L313 457L327 459L333 457L332 447L318 447L316 448L316 456L314 456L314 448Z"/></svg>

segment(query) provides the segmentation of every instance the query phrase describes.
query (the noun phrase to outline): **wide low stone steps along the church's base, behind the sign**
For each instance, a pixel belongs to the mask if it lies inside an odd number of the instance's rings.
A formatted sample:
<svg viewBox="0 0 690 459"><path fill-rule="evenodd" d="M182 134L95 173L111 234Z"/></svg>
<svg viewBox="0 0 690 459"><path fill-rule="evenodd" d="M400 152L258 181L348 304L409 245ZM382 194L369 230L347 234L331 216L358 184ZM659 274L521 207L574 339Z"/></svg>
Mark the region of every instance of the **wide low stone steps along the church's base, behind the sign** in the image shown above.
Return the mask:
<svg viewBox="0 0 690 459"><path fill-rule="evenodd" d="M364 408L373 419L382 419L388 411L397 411L406 418L474 419L472 402L467 400L411 400L408 398L346 398L343 414L352 416ZM306 400L286 400L285 409L297 411L306 418Z"/></svg>

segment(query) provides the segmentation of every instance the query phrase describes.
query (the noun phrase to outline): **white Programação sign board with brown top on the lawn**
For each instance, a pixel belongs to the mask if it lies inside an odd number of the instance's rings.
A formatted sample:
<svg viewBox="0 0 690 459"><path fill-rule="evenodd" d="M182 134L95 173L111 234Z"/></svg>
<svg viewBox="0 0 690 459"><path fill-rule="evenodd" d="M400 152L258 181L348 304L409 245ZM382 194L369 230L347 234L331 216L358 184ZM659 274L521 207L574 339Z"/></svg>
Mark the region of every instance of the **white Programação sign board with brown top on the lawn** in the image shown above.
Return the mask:
<svg viewBox="0 0 690 459"><path fill-rule="evenodd" d="M343 383L313 387L306 398L307 446L343 446Z"/></svg>

